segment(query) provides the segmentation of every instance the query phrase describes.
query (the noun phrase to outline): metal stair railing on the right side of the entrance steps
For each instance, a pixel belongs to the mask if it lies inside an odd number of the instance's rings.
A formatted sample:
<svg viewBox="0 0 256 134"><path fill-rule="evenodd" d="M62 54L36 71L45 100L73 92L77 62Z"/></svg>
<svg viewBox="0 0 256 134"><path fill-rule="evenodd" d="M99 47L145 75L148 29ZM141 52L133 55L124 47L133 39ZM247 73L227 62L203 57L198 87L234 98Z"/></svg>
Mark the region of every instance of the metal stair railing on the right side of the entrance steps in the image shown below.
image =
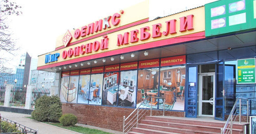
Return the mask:
<svg viewBox="0 0 256 134"><path fill-rule="evenodd" d="M247 123L249 119L249 100L246 98L237 98L236 102L234 102L234 105L230 111L230 114L227 118L227 122L225 123L224 127L221 128L221 133L231 133L232 134L232 127L233 127L233 122L236 121L237 117L239 116L239 124L241 124L241 110L242 110L242 101L241 100L246 100L247 101ZM237 106L239 103L239 107ZM239 114L238 114L239 113ZM224 116L224 115L223 115Z"/></svg>

